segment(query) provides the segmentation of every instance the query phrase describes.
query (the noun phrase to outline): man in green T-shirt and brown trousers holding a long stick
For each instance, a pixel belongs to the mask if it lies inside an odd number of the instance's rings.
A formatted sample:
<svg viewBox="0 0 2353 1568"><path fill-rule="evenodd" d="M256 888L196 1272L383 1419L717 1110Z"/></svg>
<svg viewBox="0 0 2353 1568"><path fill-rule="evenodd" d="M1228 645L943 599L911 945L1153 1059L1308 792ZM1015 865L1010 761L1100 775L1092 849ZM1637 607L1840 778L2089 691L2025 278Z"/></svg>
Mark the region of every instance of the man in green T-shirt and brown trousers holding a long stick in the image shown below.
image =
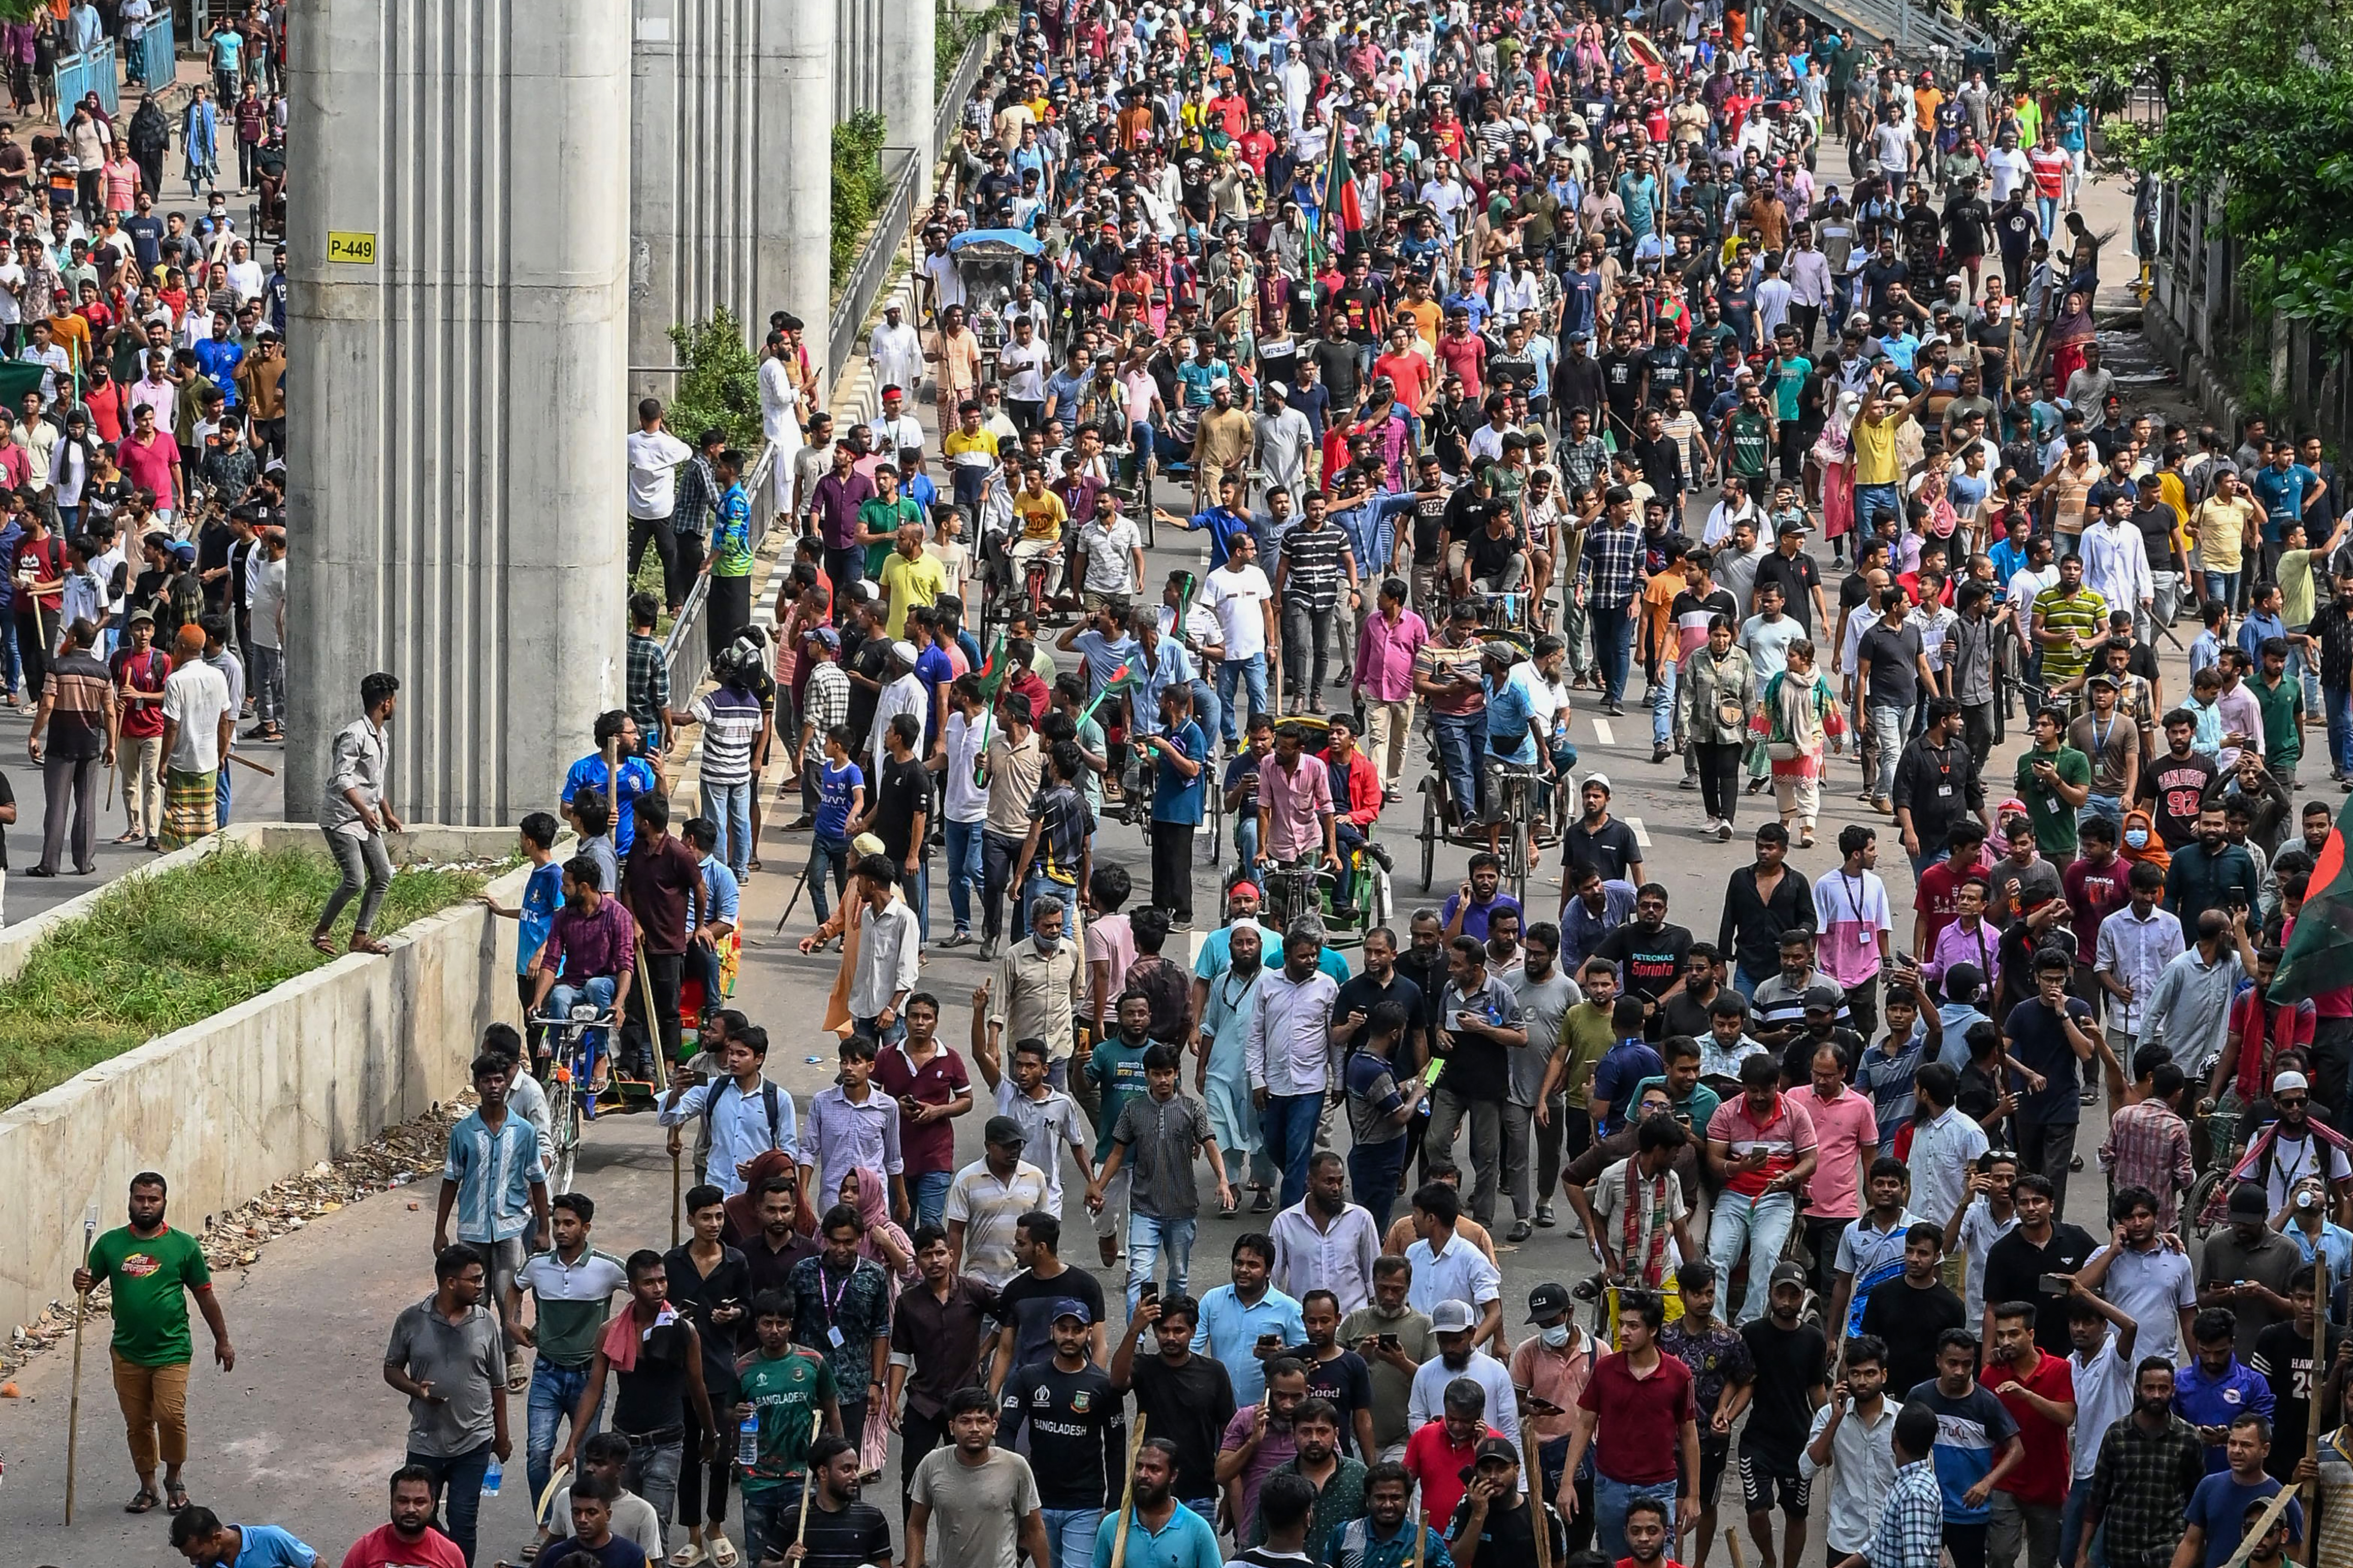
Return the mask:
<svg viewBox="0 0 2353 1568"><path fill-rule="evenodd" d="M89 1248L85 1267L73 1272L73 1288L92 1291L113 1284L115 1314L115 1399L129 1429L132 1469L139 1490L132 1514L146 1514L169 1500L172 1512L188 1507L188 1488L179 1472L188 1462L188 1363L195 1349L188 1340L188 1295L212 1331L212 1359L221 1371L235 1371L238 1352L228 1345L228 1321L212 1293L212 1269L205 1248L184 1229L165 1225L165 1180L153 1171L132 1178L129 1218ZM162 1495L155 1493L155 1465L162 1472Z"/></svg>

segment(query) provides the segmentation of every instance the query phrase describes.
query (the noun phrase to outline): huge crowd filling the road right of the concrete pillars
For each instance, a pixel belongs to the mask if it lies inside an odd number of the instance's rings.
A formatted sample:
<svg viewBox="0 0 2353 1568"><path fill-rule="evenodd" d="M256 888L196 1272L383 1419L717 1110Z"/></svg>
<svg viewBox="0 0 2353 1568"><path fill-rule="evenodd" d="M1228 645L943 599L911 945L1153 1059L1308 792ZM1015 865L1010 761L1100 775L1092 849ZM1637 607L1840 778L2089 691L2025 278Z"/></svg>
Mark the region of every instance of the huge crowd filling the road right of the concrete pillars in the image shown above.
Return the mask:
<svg viewBox="0 0 2353 1568"><path fill-rule="evenodd" d="M2353 555L2315 442L2127 418L2089 134L1746 5L1024 7L918 320L873 334L880 416L835 430L802 324L765 336L772 642L746 454L640 407L664 592L499 914L525 1018L621 1009L645 1079L694 1030L656 1103L692 1239L600 1251L539 1027L492 1027L384 1352L405 1465L344 1561L471 1566L525 1514L544 1568L1704 1568L1722 1526L1765 1568L2353 1556L2353 990L2271 990L2332 853L2311 715L2353 790ZM1040 254L976 289L967 230ZM1207 569L1153 583L1160 475ZM673 693L696 574L713 684ZM1715 940L1574 771L1572 708L1621 717L1638 658L1699 835L1774 795ZM318 940L358 898L372 950L398 682L360 698ZM226 745L235 708L165 724ZM1261 919L1268 870L1386 853L1421 733L1485 844L1461 886L1353 957ZM772 762L798 818L762 825ZM165 766L167 809L216 766ZM1501 886L1515 771L1555 910ZM1209 790L1238 858L1198 912ZM722 999L800 832L840 1044L795 1100ZM113 1288L129 1507L191 1561L308 1566L188 1493L188 1300L235 1352L165 1192L75 1281ZM1541 1260L1525 1316L1499 1246Z"/></svg>

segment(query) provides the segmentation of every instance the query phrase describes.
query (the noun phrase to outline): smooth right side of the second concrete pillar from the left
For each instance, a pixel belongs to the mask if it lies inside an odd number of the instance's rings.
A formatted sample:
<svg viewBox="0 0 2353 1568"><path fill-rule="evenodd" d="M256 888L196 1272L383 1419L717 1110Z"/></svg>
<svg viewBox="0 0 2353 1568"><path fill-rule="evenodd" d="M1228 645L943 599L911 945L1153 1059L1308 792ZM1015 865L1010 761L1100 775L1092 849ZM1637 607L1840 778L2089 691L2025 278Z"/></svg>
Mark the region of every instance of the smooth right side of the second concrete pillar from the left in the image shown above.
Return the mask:
<svg viewBox="0 0 2353 1568"><path fill-rule="evenodd" d="M758 0L760 200L753 240L755 339L772 310L802 320L819 386L833 317L833 92L835 12L828 0Z"/></svg>

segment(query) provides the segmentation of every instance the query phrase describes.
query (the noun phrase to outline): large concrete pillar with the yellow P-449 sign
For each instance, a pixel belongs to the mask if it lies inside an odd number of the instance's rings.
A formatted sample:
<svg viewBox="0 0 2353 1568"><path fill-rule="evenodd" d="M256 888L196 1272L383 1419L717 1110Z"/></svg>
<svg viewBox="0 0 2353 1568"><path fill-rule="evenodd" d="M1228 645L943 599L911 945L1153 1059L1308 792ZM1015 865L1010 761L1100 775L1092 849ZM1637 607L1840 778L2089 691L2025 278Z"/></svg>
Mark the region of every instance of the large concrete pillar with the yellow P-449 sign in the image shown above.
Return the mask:
<svg viewBox="0 0 2353 1568"><path fill-rule="evenodd" d="M624 686L631 5L294 0L294 33L287 809L391 670L398 811L513 823Z"/></svg>

